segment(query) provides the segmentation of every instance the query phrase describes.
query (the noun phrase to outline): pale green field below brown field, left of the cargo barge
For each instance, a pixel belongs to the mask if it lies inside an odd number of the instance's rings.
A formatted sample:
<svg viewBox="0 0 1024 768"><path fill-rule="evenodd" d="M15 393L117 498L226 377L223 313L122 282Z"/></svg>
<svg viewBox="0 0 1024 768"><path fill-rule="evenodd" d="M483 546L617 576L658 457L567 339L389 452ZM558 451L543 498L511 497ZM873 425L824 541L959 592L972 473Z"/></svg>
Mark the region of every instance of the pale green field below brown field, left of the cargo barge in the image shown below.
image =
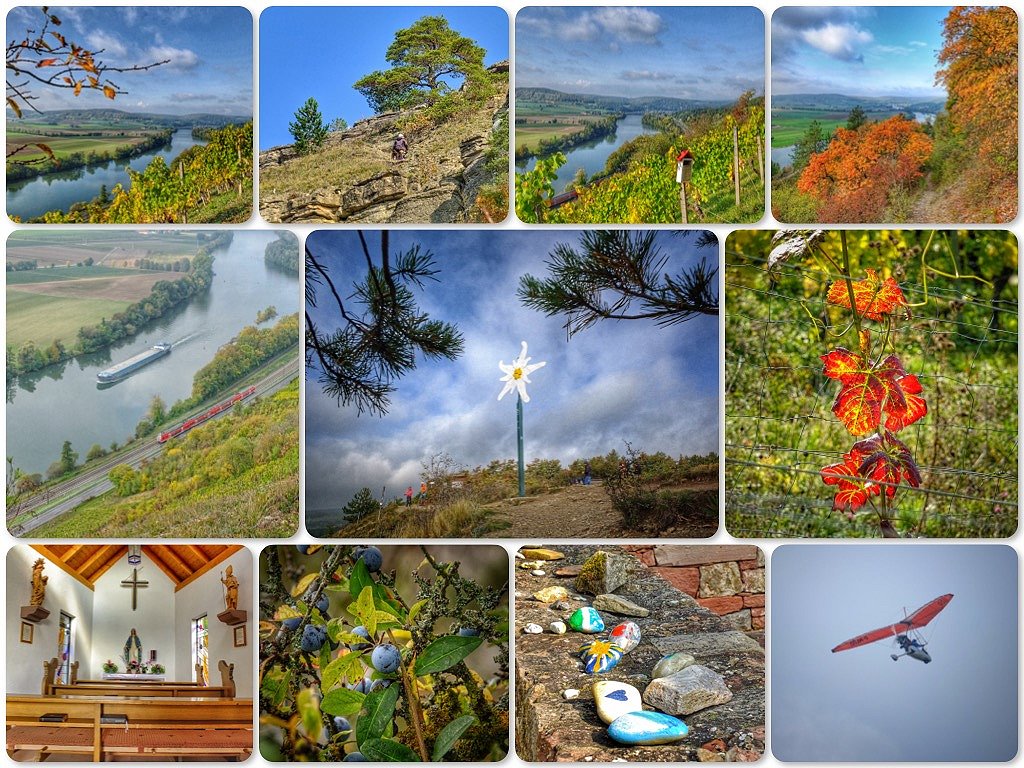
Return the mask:
<svg viewBox="0 0 1024 768"><path fill-rule="evenodd" d="M73 299L7 289L7 344L34 341L49 346L55 339L70 344L78 329L92 326L131 304L110 299Z"/></svg>

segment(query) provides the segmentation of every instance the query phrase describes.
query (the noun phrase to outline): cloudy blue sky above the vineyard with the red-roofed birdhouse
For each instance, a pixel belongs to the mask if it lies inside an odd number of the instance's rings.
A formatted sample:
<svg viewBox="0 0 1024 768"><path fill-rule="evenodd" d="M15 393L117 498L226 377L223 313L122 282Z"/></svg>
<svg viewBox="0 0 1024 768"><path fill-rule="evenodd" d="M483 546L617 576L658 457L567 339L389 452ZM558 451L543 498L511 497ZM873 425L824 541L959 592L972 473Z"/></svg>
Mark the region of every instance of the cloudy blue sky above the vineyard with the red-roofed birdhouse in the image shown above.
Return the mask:
<svg viewBox="0 0 1024 768"><path fill-rule="evenodd" d="M764 15L740 7L528 7L517 87L729 101L764 93Z"/></svg>

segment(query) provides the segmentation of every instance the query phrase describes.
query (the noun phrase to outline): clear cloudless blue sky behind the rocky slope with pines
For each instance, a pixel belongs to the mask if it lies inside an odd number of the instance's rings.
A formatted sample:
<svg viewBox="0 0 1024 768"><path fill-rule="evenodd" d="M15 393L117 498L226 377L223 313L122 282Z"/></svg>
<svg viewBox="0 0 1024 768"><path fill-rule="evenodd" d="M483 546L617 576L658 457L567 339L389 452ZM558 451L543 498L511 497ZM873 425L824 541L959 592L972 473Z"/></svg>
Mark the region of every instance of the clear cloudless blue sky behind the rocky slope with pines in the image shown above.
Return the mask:
<svg viewBox="0 0 1024 768"><path fill-rule="evenodd" d="M483 47L483 61L509 57L508 14L498 7L271 7L260 16L259 145L292 142L288 124L312 96L326 122L349 125L373 116L352 84L391 65L384 58L394 33L423 16L449 26Z"/></svg>

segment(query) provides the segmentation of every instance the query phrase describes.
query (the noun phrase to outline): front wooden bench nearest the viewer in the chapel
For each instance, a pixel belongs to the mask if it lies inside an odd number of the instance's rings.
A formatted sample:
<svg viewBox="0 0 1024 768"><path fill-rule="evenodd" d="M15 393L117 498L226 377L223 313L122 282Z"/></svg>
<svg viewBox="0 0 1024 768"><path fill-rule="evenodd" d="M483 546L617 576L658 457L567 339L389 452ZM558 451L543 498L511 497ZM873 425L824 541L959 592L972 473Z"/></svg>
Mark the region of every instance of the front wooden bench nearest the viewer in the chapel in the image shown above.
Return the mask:
<svg viewBox="0 0 1024 768"><path fill-rule="evenodd" d="M41 722L59 713L62 723ZM102 723L120 716L126 723ZM253 750L253 702L248 698L7 696L7 751L88 755L245 760Z"/></svg>

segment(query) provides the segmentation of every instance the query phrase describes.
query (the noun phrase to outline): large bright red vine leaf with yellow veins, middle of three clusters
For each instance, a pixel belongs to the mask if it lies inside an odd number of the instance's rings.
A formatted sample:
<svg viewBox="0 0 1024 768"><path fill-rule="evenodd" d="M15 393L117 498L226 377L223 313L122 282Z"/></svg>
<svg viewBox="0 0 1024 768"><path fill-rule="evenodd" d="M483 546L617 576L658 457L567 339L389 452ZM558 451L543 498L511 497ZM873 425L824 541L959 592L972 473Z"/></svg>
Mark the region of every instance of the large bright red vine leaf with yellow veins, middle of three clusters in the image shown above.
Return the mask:
<svg viewBox="0 0 1024 768"><path fill-rule="evenodd" d="M824 374L843 385L833 402L833 413L861 437L878 430L882 415L886 429L898 432L928 413L921 397L921 382L908 374L899 358L891 354L872 365L862 355L839 347L821 355Z"/></svg>

